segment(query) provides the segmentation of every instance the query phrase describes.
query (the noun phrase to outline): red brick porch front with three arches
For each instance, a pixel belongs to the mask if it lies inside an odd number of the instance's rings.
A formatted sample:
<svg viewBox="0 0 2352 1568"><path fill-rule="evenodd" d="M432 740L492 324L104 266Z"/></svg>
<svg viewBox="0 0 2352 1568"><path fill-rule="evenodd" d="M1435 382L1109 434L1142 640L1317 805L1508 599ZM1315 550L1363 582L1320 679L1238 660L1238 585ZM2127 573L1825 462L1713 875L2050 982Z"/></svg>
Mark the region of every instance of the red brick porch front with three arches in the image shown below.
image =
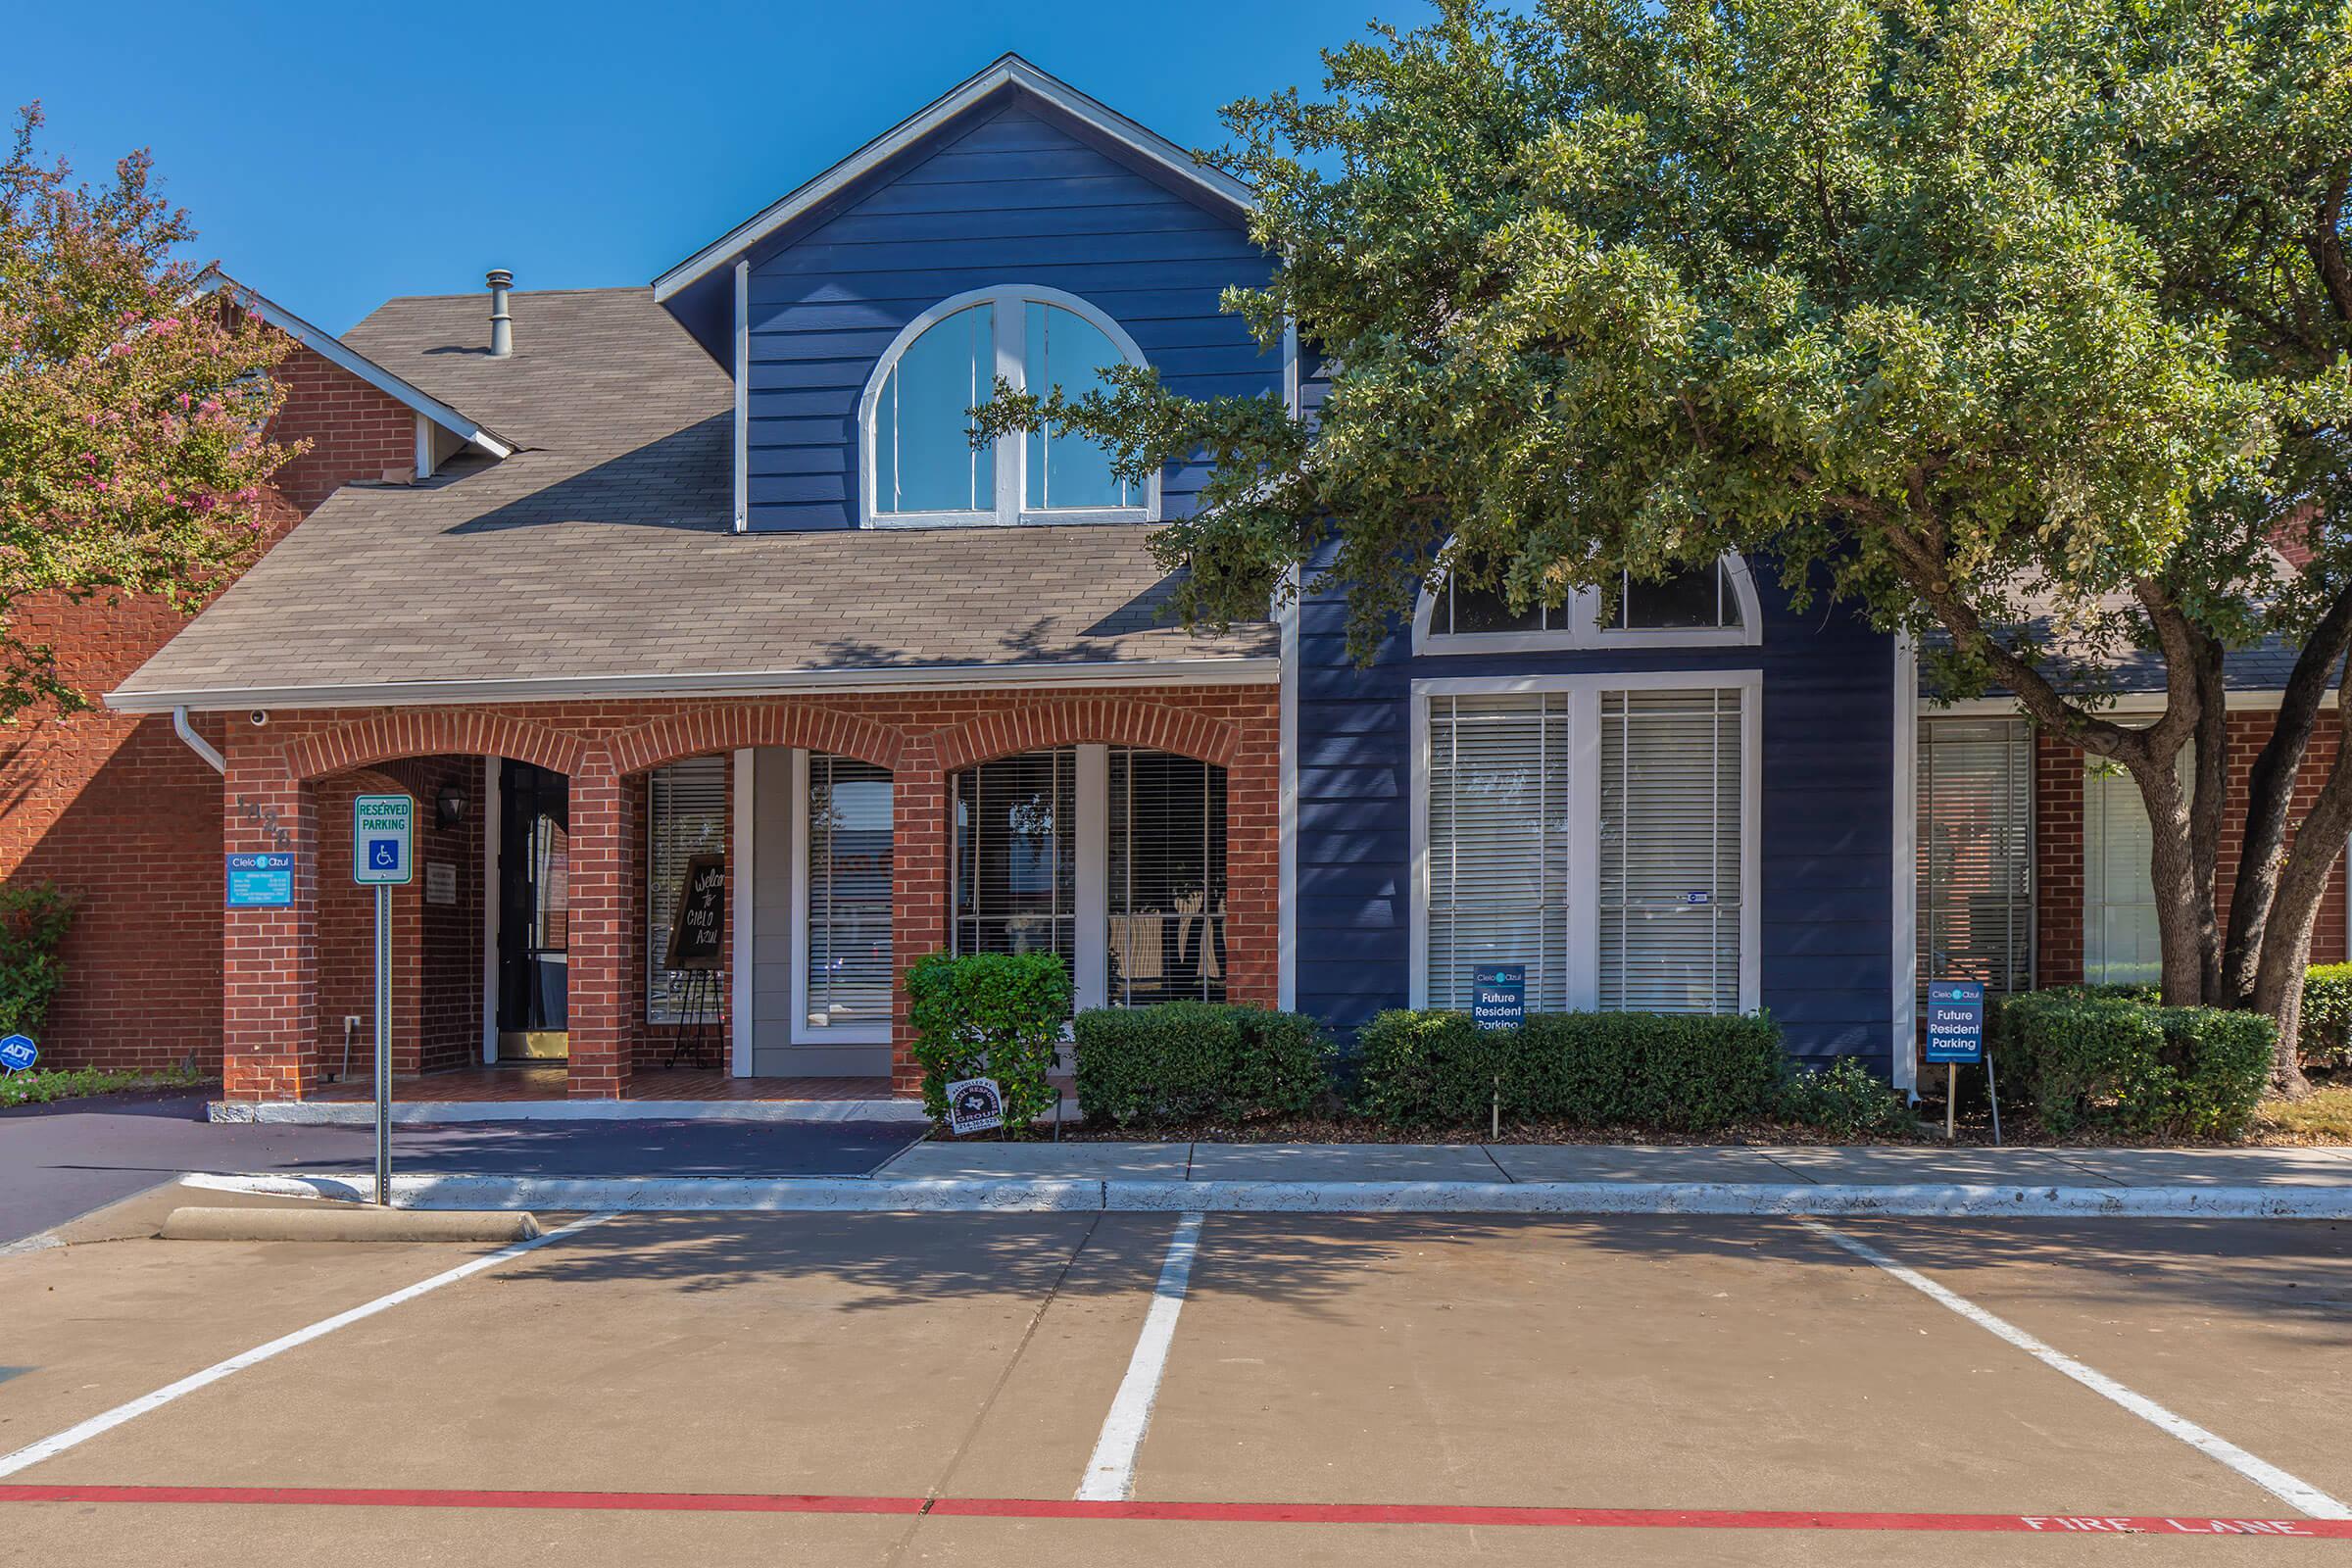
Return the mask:
<svg viewBox="0 0 2352 1568"><path fill-rule="evenodd" d="M666 1030L644 1023L642 832L649 769L746 745L804 745L891 769L891 943L903 973L948 940L950 776L990 757L1068 743L1143 745L1225 769L1225 985L1235 1001L1272 1004L1279 733L1270 686L329 710L273 715L261 729L233 726L228 849L289 849L299 877L294 910L235 910L226 919L221 969L233 999L228 1093L308 1093L322 1081L327 1051L341 1048L339 1011L348 1009L336 1001L343 985L336 971L348 966L348 957L339 954L348 952L346 931L365 910L348 907L334 886L341 882L336 867L348 863L348 849L336 844L336 832L348 837L348 827L334 825L334 816L348 818L355 780L367 776L402 776L421 809L430 811L423 780L395 766L405 757L447 766L454 757L503 755L569 776L569 1088L581 1098L616 1098L628 1091L637 1065L670 1046ZM473 844L480 860L480 842ZM433 851L419 858L426 853ZM437 912L426 910L421 898L421 879L397 893L395 931L416 931L402 938L400 961L419 973L407 987L419 997L414 1009L430 1013L437 987L428 978L428 954ZM480 889L459 905L459 919L470 912L475 931L477 898ZM477 976L480 947L473 947L473 961ZM724 997L727 976L720 985ZM477 987L473 997L480 1009ZM414 1009L395 1023L395 1039L409 1030ZM480 1011L473 1018L480 1020ZM421 1023L416 1027L423 1030ZM903 990L891 1034L896 1088L910 1093L920 1074L906 1051ZM395 1070L412 1056L433 1060L430 1053L405 1053Z"/></svg>

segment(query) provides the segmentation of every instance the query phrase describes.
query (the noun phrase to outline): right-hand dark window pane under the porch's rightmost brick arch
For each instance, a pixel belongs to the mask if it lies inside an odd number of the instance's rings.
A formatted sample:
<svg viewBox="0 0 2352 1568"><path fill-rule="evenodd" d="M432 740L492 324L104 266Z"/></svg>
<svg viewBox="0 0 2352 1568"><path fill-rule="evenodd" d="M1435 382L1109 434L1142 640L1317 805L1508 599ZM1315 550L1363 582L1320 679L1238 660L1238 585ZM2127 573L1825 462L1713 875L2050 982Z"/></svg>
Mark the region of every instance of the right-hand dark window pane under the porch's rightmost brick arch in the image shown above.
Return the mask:
<svg viewBox="0 0 2352 1568"><path fill-rule="evenodd" d="M1110 1004L1225 999L1225 769L1110 750Z"/></svg>

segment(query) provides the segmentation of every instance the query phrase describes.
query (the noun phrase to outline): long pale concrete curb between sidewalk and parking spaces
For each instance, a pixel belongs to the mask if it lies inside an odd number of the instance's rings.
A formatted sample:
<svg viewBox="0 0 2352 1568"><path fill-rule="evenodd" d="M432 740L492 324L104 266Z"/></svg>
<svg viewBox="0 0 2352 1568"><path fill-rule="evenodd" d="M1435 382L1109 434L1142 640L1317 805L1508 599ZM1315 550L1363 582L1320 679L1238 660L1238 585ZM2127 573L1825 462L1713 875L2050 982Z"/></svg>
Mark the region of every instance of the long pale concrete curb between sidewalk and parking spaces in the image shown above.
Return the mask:
<svg viewBox="0 0 2352 1568"><path fill-rule="evenodd" d="M207 1175L223 1192L362 1199L374 1178ZM365 1190L365 1192L362 1192ZM2072 1220L2352 1220L2345 1187L2025 1187L1762 1182L1178 1182L395 1175L400 1208L564 1213L1656 1213Z"/></svg>

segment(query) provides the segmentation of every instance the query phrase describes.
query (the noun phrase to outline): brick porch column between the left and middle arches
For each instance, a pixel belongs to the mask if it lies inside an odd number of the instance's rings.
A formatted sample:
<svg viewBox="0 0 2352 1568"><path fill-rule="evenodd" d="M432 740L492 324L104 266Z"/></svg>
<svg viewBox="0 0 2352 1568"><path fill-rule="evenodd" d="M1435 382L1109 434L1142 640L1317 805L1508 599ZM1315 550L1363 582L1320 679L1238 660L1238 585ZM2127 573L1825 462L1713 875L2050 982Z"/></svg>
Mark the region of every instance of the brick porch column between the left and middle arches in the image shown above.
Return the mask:
<svg viewBox="0 0 2352 1568"><path fill-rule="evenodd" d="M574 1100L628 1095L628 790L612 757L593 748L572 776L569 1030Z"/></svg>

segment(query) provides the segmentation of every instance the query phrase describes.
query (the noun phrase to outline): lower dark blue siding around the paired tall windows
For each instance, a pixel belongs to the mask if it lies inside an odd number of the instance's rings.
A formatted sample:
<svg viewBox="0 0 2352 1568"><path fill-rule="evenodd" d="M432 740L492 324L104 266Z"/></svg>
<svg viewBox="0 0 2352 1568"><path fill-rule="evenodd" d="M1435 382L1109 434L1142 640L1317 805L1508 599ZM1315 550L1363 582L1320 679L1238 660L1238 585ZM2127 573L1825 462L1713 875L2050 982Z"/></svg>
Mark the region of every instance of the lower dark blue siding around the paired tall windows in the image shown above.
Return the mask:
<svg viewBox="0 0 2352 1568"><path fill-rule="evenodd" d="M1762 670L1762 999L1802 1058L1884 1063L1893 985L1893 646L1759 564L1762 646L1348 661L1345 607L1298 618L1298 1006L1355 1027L1406 1004L1411 682L1444 675Z"/></svg>

